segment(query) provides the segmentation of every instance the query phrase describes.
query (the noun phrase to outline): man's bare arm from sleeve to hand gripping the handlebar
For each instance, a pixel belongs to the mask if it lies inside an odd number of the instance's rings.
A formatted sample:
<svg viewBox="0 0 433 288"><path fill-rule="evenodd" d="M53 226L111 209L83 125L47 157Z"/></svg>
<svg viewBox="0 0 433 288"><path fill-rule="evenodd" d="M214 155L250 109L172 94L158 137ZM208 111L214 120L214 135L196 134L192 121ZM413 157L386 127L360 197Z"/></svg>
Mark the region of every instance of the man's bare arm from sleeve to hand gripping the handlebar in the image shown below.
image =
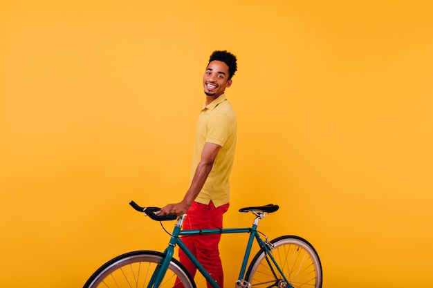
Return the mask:
<svg viewBox="0 0 433 288"><path fill-rule="evenodd" d="M197 195L199 195L201 189L203 188L203 185L206 182L206 179L208 179L208 175L212 170L212 166L214 164L216 155L219 152L219 149L221 149L221 146L219 146L218 144L213 144L209 142L205 143L203 151L201 152L201 159L199 165L197 165L194 177L192 177L190 189L188 189L182 202L179 202L177 204L168 204L167 206L163 207L163 209L161 209L160 215L182 215L183 213L186 213L188 209L190 209L192 202L194 202Z"/></svg>

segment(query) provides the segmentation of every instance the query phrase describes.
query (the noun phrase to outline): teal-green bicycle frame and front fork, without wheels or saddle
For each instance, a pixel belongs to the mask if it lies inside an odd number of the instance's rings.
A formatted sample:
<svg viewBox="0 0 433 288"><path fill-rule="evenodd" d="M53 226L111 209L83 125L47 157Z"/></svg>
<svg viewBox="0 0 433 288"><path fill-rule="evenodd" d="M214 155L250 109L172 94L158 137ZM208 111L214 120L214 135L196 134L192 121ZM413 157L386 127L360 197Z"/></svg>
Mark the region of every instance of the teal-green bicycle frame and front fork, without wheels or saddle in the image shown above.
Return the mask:
<svg viewBox="0 0 433 288"><path fill-rule="evenodd" d="M183 216L181 216L183 217ZM165 249L164 254L165 257L161 262L159 263L158 267L154 271L154 274L151 277L151 281L149 282L148 288L152 287L159 287L160 282L163 280L165 276L165 272L167 271L167 268L169 266L170 261L173 258L174 254L174 247L178 245L179 249L181 249L185 255L190 258L190 260L194 263L196 268L200 271L200 273L204 276L208 282L210 282L210 285L214 288L220 288L219 285L215 282L215 280L210 276L208 271L203 267L203 265L200 264L199 260L192 254L190 249L188 249L185 244L182 242L181 238L179 236L193 236L193 235L203 235L203 234L234 234L234 233L250 233L250 237L248 238L248 244L246 247L245 255L243 256L243 261L241 265L241 271L239 272L239 280L243 280L245 273L246 273L246 266L248 264L248 258L250 257L251 249L252 249L252 242L254 239L256 239L257 243L259 244L259 247L263 248L267 261L269 263L271 271L275 274L275 277L277 273L275 272L275 269L273 267L277 268L277 271L282 277L284 278L284 281L288 283L288 288L293 288L292 285L288 282L286 279L286 276L284 276L283 271L281 268L277 265L277 262L273 258L273 255L270 253L270 248L262 240L259 236L259 233L257 232L257 224L253 224L251 228L225 228L225 229L194 229L194 230L181 230L181 227L178 225L178 222L176 222L176 226L174 227L174 231L172 234L172 238L170 238L169 245ZM271 262L273 265L270 265Z"/></svg>

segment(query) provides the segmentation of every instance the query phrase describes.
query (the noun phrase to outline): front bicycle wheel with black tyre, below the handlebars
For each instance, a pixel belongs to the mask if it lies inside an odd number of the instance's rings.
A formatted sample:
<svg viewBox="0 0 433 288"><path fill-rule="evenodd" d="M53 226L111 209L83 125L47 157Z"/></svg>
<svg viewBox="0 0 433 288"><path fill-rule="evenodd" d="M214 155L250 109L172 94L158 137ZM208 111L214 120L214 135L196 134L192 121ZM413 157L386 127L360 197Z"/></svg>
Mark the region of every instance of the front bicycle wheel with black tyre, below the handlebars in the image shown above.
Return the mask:
<svg viewBox="0 0 433 288"><path fill-rule="evenodd" d="M164 253L157 251L125 253L102 265L87 280L84 288L148 287L153 272L164 257ZM176 278L181 282L174 285ZM181 262L173 258L159 287L196 288L196 285Z"/></svg>

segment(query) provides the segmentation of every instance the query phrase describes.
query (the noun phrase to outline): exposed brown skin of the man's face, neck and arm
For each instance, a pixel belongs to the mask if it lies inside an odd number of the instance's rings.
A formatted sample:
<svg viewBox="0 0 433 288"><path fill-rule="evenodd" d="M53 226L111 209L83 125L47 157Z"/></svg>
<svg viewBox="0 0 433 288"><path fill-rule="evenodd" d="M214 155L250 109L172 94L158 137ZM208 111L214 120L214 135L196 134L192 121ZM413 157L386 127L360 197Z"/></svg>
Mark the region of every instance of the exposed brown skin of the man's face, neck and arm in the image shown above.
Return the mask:
<svg viewBox="0 0 433 288"><path fill-rule="evenodd" d="M232 80L229 79L229 68L222 61L212 61L206 67L205 75L203 75L203 88L205 89L206 104L210 104L214 99L218 98L225 91L225 88L230 87ZM218 155L221 146L218 144L206 142L201 152L200 162L197 165L190 189L181 202L175 204L167 204L160 211L160 215L176 214L182 215L190 209L192 202L199 195L203 185L208 179L208 175L212 170L212 166Z"/></svg>

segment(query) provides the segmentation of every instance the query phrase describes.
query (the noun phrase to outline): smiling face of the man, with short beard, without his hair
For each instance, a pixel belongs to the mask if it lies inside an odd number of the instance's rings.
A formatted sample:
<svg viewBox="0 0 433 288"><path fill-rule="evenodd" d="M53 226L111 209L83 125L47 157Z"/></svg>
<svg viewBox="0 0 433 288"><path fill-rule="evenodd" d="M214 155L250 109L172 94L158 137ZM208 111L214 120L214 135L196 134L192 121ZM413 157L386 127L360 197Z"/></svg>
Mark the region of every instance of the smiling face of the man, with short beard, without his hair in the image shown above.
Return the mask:
<svg viewBox="0 0 433 288"><path fill-rule="evenodd" d="M214 98L224 93L226 87L232 85L228 79L228 66L223 61L214 60L210 62L203 75L203 86L205 94Z"/></svg>

